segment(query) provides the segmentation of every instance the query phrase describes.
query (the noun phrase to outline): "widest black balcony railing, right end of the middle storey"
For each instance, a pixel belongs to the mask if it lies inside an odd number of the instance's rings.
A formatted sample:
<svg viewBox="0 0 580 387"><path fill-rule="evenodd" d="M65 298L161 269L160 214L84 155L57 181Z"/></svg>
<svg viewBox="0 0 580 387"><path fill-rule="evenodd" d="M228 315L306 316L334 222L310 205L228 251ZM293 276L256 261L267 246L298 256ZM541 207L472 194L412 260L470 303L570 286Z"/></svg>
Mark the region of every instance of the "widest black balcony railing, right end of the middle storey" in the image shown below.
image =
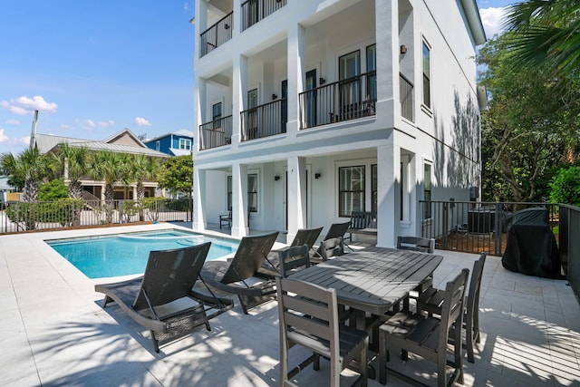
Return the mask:
<svg viewBox="0 0 580 387"><path fill-rule="evenodd" d="M375 115L376 72L301 92L301 129Z"/></svg>

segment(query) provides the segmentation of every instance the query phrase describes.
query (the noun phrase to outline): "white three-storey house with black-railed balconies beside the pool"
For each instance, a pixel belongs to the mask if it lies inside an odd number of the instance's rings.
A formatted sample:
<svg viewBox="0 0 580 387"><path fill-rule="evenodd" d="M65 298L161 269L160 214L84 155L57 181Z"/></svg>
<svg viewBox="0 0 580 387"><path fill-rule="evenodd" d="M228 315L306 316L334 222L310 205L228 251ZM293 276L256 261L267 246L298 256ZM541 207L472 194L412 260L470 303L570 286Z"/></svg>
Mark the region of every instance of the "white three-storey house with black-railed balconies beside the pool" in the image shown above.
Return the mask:
<svg viewBox="0 0 580 387"><path fill-rule="evenodd" d="M196 2L194 222L232 235L376 211L420 235L420 200L480 182L475 0ZM249 219L247 213L249 211Z"/></svg>

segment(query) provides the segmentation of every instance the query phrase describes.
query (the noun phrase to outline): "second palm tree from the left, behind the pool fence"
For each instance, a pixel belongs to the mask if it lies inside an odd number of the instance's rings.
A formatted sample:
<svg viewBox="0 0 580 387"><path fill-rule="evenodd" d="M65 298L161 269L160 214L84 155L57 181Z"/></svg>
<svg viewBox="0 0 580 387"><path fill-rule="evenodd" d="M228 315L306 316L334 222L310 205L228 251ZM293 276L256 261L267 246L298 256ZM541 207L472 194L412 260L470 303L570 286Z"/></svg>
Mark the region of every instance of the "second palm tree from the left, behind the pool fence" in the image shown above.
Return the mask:
<svg viewBox="0 0 580 387"><path fill-rule="evenodd" d="M89 169L90 152L87 148L72 147L62 144L53 153L56 167L64 171L64 177L69 180L68 189L70 198L82 199L81 178Z"/></svg>

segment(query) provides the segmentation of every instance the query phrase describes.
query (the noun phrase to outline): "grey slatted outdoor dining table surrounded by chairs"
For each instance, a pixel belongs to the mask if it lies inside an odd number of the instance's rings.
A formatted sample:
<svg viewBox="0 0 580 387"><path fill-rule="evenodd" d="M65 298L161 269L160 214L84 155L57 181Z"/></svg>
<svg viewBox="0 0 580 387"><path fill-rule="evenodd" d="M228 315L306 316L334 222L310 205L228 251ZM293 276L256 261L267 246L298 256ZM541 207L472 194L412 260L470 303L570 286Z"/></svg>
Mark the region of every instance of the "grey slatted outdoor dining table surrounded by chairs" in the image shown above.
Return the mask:
<svg viewBox="0 0 580 387"><path fill-rule="evenodd" d="M442 260L442 256L411 250L366 247L290 277L335 288L338 303L359 311L356 326L366 329L364 313L380 316L397 307Z"/></svg>

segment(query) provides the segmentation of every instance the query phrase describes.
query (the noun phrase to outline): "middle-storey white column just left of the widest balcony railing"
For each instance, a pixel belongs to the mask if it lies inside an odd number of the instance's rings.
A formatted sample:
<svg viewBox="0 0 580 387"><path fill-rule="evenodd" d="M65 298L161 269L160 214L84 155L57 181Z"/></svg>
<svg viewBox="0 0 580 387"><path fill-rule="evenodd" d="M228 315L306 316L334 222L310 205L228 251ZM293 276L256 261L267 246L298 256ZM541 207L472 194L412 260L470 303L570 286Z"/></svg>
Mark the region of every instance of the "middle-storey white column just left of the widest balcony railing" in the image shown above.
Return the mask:
<svg viewBox="0 0 580 387"><path fill-rule="evenodd" d="M298 93L304 91L304 27L295 24L288 31L288 122L286 132L295 136L300 131L300 107Z"/></svg>

